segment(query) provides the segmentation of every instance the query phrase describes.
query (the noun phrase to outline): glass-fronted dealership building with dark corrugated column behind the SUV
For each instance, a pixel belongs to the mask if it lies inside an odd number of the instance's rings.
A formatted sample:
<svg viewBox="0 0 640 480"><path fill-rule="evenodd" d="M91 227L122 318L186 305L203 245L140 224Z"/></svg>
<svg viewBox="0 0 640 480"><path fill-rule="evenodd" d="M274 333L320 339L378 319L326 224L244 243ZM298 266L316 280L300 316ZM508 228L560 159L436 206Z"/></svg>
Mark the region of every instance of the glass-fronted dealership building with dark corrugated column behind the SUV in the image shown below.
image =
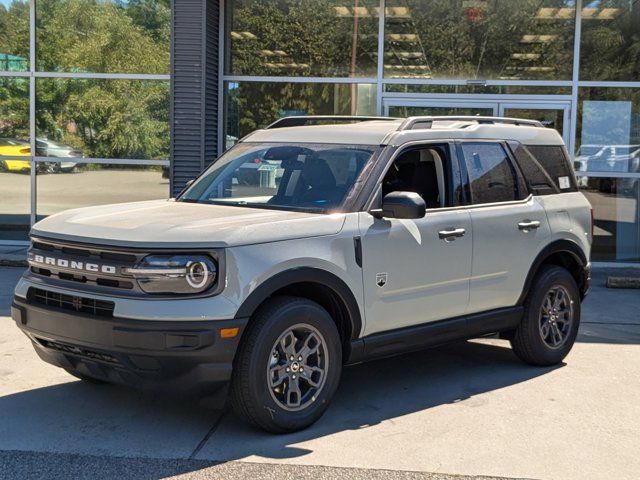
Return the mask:
<svg viewBox="0 0 640 480"><path fill-rule="evenodd" d="M0 0L0 17L0 244L169 197L282 116L495 115L560 132L593 260L640 264L640 0Z"/></svg>

